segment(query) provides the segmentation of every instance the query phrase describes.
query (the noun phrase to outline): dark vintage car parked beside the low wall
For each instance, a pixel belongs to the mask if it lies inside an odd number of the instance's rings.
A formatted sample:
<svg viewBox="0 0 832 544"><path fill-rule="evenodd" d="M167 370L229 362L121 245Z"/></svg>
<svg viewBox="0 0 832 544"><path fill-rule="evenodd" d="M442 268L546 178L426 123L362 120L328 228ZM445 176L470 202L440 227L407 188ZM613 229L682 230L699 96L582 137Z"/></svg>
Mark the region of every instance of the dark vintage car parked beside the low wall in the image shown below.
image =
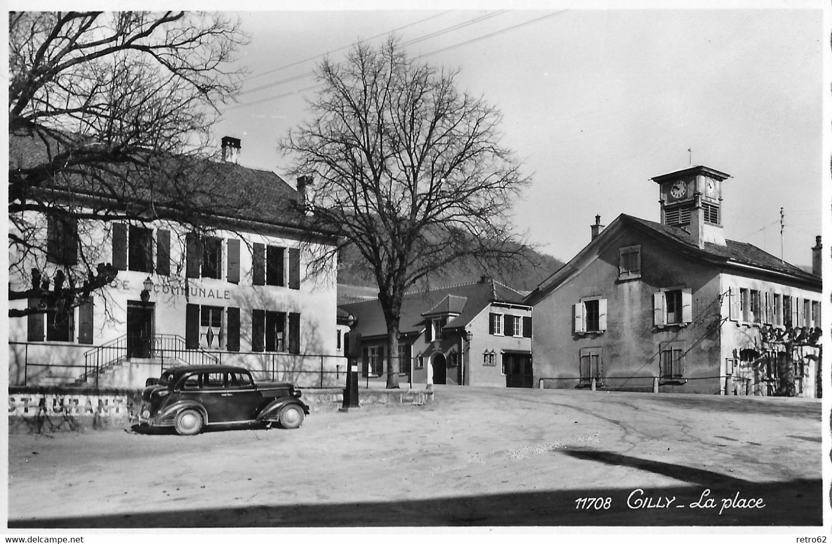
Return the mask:
<svg viewBox="0 0 832 544"><path fill-rule="evenodd" d="M294 385L255 383L248 370L237 366L180 366L148 383L152 385L141 393L140 429L173 427L179 434L225 425L297 429L310 413Z"/></svg>

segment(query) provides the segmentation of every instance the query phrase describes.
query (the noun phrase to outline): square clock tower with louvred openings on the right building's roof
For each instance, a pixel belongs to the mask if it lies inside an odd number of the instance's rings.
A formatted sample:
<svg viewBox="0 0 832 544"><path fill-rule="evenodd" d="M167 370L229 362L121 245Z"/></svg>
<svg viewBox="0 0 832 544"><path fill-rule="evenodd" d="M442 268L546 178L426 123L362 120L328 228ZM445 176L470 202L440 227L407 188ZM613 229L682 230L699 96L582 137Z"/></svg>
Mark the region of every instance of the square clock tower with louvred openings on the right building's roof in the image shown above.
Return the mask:
<svg viewBox="0 0 832 544"><path fill-rule="evenodd" d="M661 224L685 229L699 247L726 245L722 233L722 182L729 174L691 166L653 178L659 184Z"/></svg>

